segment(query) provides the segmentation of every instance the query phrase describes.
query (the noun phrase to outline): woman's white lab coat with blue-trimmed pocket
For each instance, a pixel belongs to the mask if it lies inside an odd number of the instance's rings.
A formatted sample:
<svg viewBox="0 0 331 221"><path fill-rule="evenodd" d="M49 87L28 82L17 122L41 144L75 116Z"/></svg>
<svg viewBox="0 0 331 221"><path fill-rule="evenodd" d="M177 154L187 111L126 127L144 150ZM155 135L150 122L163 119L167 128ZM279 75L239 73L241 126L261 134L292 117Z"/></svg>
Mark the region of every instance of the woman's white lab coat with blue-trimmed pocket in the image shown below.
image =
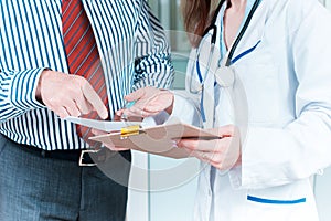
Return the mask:
<svg viewBox="0 0 331 221"><path fill-rule="evenodd" d="M242 166L225 176L217 171L212 190L211 167L203 165L195 220L318 220L309 178L331 162L330 22L317 0L261 1L234 54L260 41L233 65L248 104ZM215 127L232 120L218 90ZM192 101L192 94L178 94L172 116L196 124Z"/></svg>

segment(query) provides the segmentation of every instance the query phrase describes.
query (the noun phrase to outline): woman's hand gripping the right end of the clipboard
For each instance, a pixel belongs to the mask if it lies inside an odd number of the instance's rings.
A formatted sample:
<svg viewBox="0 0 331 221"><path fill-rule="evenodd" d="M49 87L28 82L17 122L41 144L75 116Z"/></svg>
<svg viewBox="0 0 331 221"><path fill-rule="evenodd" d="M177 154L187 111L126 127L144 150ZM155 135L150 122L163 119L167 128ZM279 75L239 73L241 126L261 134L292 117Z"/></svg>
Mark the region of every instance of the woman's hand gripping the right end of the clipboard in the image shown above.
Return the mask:
<svg viewBox="0 0 331 221"><path fill-rule="evenodd" d="M209 129L221 139L192 140L181 139L177 143L178 147L185 148L191 156L211 164L220 170L228 170L241 164L241 138L239 130L233 126Z"/></svg>

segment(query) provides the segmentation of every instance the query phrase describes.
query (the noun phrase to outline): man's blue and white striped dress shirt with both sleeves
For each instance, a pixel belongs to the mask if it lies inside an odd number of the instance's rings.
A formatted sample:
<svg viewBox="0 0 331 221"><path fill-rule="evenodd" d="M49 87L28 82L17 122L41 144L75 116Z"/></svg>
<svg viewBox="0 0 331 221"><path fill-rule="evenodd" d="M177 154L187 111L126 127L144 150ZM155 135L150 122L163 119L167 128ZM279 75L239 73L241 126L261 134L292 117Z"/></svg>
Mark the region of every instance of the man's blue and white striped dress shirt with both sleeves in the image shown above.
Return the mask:
<svg viewBox="0 0 331 221"><path fill-rule="evenodd" d="M105 71L110 117L126 94L171 86L169 44L145 0L82 1ZM43 70L68 73L61 7L61 0L0 1L0 133L45 150L88 147L75 125L35 99Z"/></svg>

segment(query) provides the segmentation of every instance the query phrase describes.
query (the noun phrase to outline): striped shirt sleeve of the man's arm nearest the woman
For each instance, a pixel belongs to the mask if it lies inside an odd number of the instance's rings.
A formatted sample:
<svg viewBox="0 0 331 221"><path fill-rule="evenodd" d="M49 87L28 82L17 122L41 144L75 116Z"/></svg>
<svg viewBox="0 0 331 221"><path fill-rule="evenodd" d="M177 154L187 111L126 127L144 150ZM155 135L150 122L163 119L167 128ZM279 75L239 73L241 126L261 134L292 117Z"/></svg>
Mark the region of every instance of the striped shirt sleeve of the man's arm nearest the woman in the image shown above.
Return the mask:
<svg viewBox="0 0 331 221"><path fill-rule="evenodd" d="M164 30L145 0L136 1L136 60L134 90L145 86L169 88L173 82L170 46Z"/></svg>

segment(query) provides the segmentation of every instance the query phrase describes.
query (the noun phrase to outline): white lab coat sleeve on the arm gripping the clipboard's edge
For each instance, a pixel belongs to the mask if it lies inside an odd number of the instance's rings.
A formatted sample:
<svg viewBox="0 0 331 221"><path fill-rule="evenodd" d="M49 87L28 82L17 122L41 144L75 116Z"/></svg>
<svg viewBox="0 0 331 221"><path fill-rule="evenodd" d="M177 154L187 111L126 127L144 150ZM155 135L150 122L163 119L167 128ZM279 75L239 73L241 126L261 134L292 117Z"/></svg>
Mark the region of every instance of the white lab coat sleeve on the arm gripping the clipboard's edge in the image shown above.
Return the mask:
<svg viewBox="0 0 331 221"><path fill-rule="evenodd" d="M302 22L288 30L298 82L297 118L284 128L248 128L242 168L229 173L237 188L290 183L320 173L331 164L331 15L318 3L307 11L299 10Z"/></svg>

